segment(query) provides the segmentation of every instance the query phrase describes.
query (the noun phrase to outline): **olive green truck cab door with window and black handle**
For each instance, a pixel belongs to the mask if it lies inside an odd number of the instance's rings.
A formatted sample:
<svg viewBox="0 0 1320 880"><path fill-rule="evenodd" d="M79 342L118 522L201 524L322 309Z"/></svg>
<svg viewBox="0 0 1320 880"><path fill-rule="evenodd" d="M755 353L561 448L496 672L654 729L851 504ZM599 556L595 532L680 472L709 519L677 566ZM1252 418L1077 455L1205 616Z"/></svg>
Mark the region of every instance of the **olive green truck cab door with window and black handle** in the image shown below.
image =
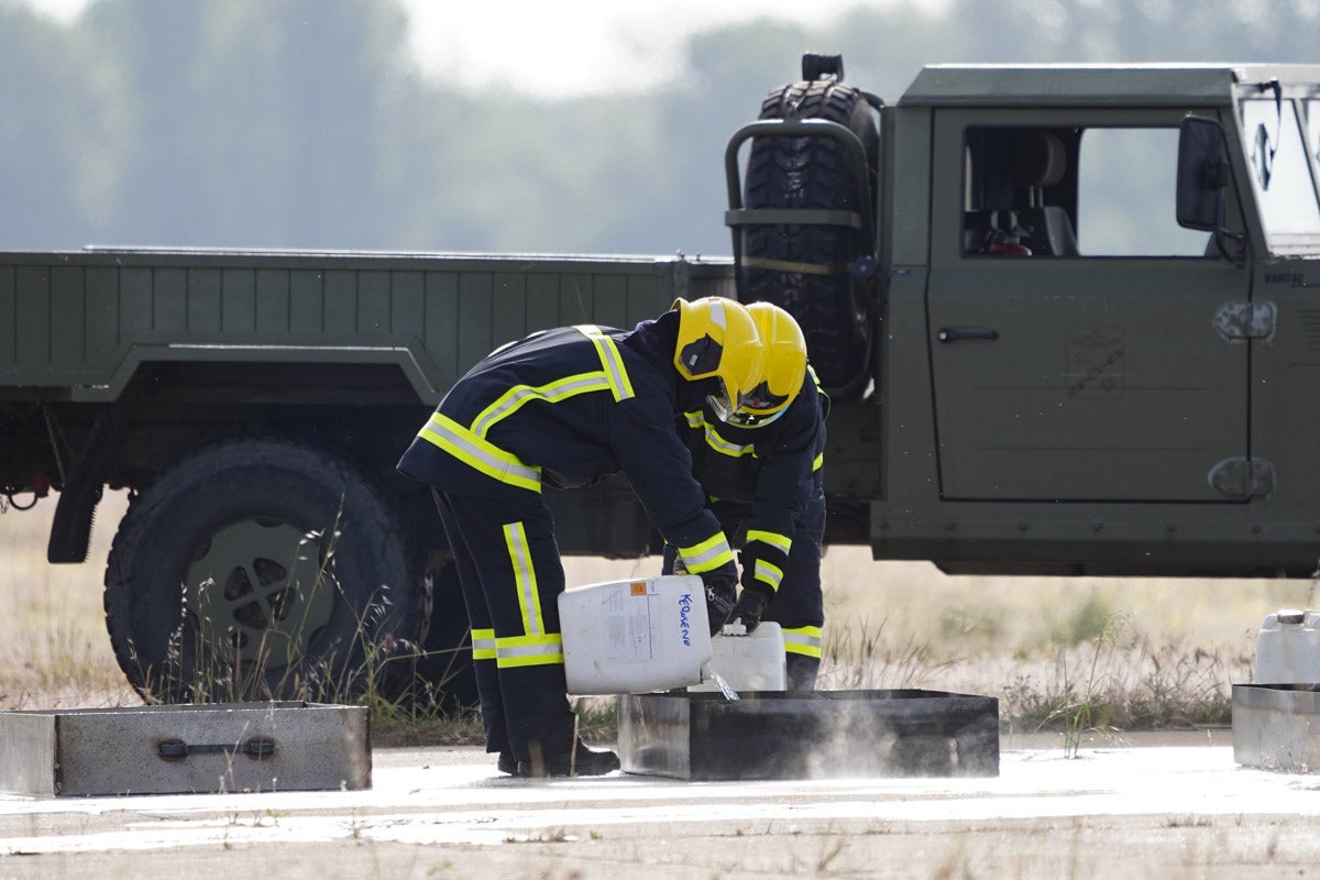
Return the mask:
<svg viewBox="0 0 1320 880"><path fill-rule="evenodd" d="M1184 115L936 112L944 497L1241 500L1251 273L1176 224Z"/></svg>

